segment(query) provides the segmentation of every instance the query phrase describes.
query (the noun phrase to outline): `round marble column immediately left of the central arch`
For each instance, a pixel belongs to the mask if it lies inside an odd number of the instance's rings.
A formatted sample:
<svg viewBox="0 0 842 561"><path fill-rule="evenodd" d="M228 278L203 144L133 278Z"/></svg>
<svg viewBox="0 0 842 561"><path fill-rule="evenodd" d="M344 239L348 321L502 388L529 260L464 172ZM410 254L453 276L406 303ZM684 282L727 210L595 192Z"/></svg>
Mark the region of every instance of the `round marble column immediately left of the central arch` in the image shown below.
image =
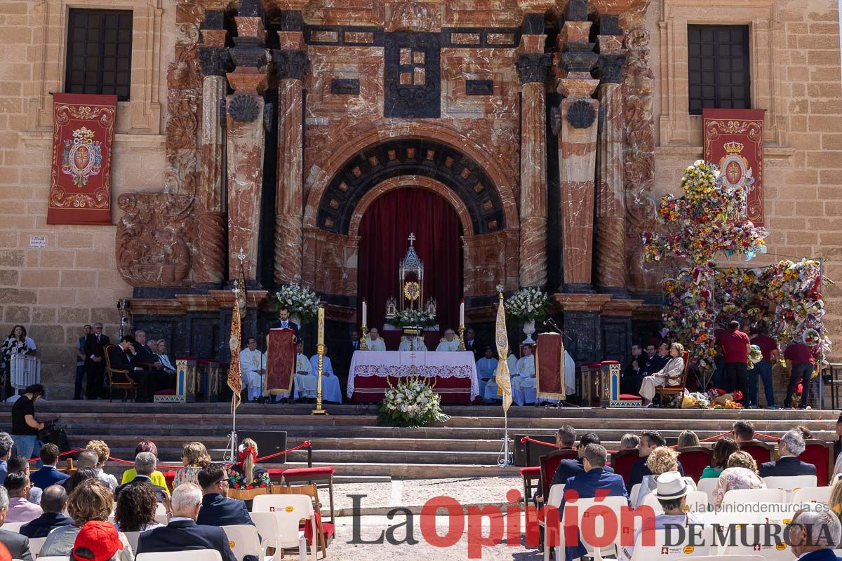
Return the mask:
<svg viewBox="0 0 842 561"><path fill-rule="evenodd" d="M301 82L306 45L301 31L279 31L281 49L272 51L278 77L278 190L274 222L274 282L301 283L303 213L303 112Z"/></svg>

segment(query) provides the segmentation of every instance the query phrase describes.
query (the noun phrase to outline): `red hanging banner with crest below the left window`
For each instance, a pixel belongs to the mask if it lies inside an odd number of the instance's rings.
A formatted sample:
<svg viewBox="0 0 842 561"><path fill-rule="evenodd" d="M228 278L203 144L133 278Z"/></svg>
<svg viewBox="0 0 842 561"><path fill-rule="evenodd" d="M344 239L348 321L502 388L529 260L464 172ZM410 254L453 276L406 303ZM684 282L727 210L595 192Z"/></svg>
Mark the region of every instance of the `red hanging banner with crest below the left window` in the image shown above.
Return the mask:
<svg viewBox="0 0 842 561"><path fill-rule="evenodd" d="M111 147L117 96L53 94L47 224L111 224Z"/></svg>

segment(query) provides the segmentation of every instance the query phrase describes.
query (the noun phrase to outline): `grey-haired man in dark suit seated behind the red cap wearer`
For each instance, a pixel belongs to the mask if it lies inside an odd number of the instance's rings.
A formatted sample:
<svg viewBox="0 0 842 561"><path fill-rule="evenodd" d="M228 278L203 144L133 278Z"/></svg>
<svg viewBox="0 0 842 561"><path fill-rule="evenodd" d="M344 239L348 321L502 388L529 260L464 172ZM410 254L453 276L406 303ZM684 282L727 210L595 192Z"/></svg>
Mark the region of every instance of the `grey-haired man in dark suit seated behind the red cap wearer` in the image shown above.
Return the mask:
<svg viewBox="0 0 842 561"><path fill-rule="evenodd" d="M169 524L141 533L137 554L216 549L222 561L237 561L220 527L199 526L196 518L202 508L202 490L192 483L180 484L173 491L173 516Z"/></svg>

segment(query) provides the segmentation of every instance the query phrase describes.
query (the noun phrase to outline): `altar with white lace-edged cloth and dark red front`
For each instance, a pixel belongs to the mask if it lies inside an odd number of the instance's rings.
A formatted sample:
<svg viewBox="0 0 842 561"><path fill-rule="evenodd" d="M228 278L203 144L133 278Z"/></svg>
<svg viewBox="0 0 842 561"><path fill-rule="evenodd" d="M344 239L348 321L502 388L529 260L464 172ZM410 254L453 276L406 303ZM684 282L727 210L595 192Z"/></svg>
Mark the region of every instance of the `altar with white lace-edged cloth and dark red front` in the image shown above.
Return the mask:
<svg viewBox="0 0 842 561"><path fill-rule="evenodd" d="M477 363L470 351L356 351L348 372L349 400L377 403L390 383L413 373L434 378L434 391L443 405L469 404L479 395Z"/></svg>

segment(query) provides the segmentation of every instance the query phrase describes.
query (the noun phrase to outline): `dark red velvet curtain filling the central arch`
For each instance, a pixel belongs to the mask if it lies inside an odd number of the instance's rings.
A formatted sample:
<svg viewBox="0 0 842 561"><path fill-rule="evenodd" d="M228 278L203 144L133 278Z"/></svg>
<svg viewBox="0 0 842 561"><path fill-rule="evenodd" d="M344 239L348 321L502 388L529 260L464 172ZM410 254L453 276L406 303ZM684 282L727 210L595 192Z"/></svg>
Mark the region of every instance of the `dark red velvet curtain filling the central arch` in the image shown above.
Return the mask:
<svg viewBox="0 0 842 561"><path fill-rule="evenodd" d="M422 188L384 194L370 205L360 222L359 292L360 303L363 298L368 302L368 325L382 328L386 299L400 299L398 263L406 256L410 233L415 234L415 251L424 262L424 301L430 296L435 299L442 332L447 327L458 329L461 222L445 198Z"/></svg>

